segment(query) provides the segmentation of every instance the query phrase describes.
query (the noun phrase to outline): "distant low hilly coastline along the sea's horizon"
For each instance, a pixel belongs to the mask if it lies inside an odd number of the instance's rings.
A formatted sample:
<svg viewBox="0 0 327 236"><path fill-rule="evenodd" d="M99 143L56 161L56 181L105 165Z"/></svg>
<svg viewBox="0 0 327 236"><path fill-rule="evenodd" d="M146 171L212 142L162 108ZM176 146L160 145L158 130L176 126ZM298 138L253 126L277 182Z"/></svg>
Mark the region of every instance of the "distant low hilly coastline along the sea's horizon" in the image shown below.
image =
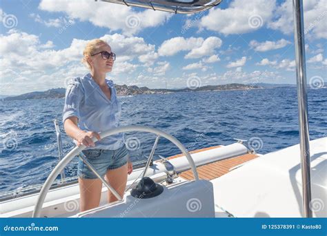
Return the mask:
<svg viewBox="0 0 327 236"><path fill-rule="evenodd" d="M293 85L278 85L269 83L258 83L255 85L242 84L242 83L228 83L224 85L217 86L201 86L199 88L180 88L180 89L165 89L165 88L148 88L148 87L138 87L138 86L126 86L115 84L118 96L128 96L128 95L143 95L143 94L167 94L172 92L206 92L206 91L221 91L221 90L251 90L260 88L276 88L283 86L293 86ZM295 85L294 85L295 86ZM65 97L66 88L52 88L44 92L28 92L18 96L8 96L4 97L0 95L0 99L4 101L12 100L26 100L26 99L54 99Z"/></svg>

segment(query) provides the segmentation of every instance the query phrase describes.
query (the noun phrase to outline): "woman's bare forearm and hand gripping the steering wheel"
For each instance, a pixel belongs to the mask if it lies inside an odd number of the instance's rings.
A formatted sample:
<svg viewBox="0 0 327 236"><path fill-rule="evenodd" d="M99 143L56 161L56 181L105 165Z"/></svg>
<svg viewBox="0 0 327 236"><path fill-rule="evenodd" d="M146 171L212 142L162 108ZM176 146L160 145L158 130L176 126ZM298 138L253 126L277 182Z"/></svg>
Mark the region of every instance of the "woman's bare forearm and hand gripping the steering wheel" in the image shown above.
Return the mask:
<svg viewBox="0 0 327 236"><path fill-rule="evenodd" d="M77 121L77 117L69 117L65 120L63 127L65 128L66 134L77 141L77 146L83 144L87 147L94 147L95 143L92 141L92 137L96 137L100 140L100 135L97 132L86 132L81 130L79 126L77 126Z"/></svg>

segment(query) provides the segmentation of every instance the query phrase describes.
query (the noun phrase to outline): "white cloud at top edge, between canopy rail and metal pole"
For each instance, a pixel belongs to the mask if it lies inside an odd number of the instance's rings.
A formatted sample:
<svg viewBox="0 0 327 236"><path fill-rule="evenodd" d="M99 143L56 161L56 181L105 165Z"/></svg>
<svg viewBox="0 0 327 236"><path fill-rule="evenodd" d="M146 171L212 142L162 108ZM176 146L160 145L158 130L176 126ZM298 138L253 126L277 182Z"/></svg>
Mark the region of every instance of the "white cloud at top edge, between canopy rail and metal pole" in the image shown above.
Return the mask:
<svg viewBox="0 0 327 236"><path fill-rule="evenodd" d="M226 9L210 9L208 15L201 18L198 26L224 35L243 34L268 23L274 10L275 0L253 0L249 3L235 0Z"/></svg>

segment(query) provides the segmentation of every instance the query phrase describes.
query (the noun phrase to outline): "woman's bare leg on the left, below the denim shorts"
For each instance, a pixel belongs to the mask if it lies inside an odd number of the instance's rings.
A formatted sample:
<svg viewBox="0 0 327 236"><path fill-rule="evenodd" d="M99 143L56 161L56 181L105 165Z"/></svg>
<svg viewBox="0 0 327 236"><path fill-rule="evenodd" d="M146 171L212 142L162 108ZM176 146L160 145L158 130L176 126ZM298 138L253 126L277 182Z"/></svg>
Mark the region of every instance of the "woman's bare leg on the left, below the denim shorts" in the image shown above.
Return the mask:
<svg viewBox="0 0 327 236"><path fill-rule="evenodd" d="M102 182L100 179L79 178L79 192L81 194L80 210L90 210L100 204Z"/></svg>

